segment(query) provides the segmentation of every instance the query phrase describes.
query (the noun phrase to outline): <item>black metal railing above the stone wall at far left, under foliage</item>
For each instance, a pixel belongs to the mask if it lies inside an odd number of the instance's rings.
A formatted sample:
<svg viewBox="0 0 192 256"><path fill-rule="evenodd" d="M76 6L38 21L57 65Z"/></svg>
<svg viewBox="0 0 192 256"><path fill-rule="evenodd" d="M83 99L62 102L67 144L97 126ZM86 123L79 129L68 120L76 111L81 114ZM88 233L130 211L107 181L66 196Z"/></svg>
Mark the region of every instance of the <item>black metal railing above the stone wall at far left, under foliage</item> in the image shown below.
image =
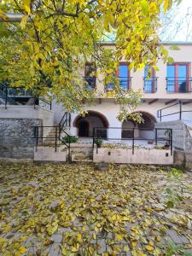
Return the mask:
<svg viewBox="0 0 192 256"><path fill-rule="evenodd" d="M0 105L7 108L8 105L28 105L43 106L51 110L51 102L43 96L32 95L31 90L25 90L23 87L9 87L7 84L0 83Z"/></svg>

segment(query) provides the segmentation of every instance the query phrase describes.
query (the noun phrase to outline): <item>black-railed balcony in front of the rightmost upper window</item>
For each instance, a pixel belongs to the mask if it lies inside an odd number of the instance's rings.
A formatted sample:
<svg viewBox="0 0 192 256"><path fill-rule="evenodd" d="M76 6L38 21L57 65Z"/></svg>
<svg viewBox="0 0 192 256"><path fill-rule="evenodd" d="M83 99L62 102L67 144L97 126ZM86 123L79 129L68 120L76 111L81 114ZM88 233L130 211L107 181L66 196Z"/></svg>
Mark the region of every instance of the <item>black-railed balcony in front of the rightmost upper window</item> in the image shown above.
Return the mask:
<svg viewBox="0 0 192 256"><path fill-rule="evenodd" d="M166 78L167 93L189 93L191 92L191 78Z"/></svg>

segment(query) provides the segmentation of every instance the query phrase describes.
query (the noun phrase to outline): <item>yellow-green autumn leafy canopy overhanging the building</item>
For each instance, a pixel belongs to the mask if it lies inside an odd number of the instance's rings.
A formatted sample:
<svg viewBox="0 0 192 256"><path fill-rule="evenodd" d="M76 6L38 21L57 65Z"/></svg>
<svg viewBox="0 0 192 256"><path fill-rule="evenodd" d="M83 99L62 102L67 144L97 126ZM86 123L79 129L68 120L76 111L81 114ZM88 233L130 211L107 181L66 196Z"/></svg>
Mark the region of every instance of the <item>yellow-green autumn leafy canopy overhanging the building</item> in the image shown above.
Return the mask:
<svg viewBox="0 0 192 256"><path fill-rule="evenodd" d="M95 94L83 88L79 70L86 61L108 79L125 56L130 68L155 67L166 61L158 46L160 9L172 0L4 0L0 17L23 14L21 22L1 23L1 80L25 85L37 95L54 95L70 111L81 109ZM180 2L178 0L175 3ZM98 43L113 35L116 49ZM96 73L96 75L97 75ZM115 86L115 96L119 86ZM127 95L129 96L129 94Z"/></svg>

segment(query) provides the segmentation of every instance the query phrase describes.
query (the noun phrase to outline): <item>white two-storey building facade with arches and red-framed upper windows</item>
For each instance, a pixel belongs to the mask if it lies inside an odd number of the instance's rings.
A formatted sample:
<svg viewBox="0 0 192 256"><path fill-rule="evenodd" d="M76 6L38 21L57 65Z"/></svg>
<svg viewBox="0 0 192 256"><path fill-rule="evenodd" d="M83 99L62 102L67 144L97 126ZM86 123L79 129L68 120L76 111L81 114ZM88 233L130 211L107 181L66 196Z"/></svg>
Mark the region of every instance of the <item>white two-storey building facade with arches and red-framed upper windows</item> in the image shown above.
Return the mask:
<svg viewBox="0 0 192 256"><path fill-rule="evenodd" d="M152 71L147 79L147 68L133 72L129 70L129 63L119 62L119 81L125 90L142 90L142 102L136 109L143 114L144 123L137 125L132 121L120 122L117 119L119 105L113 97L105 95L111 84L104 84L101 78L89 76L89 64L85 64L82 76L93 90L102 92L103 96L96 99L93 105L84 103L87 115L72 113L71 135L77 137L92 137L93 128L108 129L109 138L129 138L131 129L135 128L135 137L154 138L154 124L160 121L177 119L192 120L192 90L191 90L191 61L192 43L160 43L165 46L172 56L172 65L159 61L159 71ZM177 45L178 49L172 49ZM103 43L103 47L115 47L112 43ZM63 108L54 105L55 124L58 124L63 114ZM115 128L115 129L114 129ZM130 129L130 130L129 130Z"/></svg>

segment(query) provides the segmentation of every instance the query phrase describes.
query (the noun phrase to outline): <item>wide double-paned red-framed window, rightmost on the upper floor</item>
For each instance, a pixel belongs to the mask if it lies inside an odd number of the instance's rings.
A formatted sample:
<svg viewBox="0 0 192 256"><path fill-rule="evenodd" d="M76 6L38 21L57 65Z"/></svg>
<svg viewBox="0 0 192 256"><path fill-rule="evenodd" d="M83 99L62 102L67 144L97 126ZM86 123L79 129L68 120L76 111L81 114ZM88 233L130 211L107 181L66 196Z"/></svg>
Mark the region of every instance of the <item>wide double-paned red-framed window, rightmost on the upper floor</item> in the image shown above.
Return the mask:
<svg viewBox="0 0 192 256"><path fill-rule="evenodd" d="M174 63L166 67L167 92L189 92L189 63Z"/></svg>

